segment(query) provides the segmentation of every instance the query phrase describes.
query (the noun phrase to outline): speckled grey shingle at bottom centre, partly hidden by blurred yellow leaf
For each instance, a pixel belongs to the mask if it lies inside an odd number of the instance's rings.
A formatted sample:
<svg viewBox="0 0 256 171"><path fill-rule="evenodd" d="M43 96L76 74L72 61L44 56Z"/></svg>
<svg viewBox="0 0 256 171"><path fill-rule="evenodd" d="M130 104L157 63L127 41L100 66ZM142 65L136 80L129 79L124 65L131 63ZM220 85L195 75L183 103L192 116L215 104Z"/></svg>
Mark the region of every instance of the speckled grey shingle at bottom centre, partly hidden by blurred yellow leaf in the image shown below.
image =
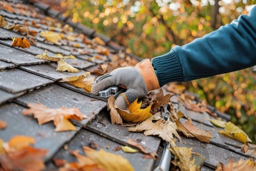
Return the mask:
<svg viewBox="0 0 256 171"><path fill-rule="evenodd" d="M123 150L114 151L115 147L120 147L119 143L116 143L106 137L100 136L88 130L81 130L70 143L68 143L68 150L61 149L55 156L55 159L65 159L69 162L77 161L74 156L70 155L71 150L79 150L80 154L84 154L83 146L89 146L91 143L99 145L99 149L103 149L109 153L121 155L125 159L129 160L134 170L145 171L152 170L153 159L143 159L142 153L125 153ZM57 169L57 168L56 168Z"/></svg>

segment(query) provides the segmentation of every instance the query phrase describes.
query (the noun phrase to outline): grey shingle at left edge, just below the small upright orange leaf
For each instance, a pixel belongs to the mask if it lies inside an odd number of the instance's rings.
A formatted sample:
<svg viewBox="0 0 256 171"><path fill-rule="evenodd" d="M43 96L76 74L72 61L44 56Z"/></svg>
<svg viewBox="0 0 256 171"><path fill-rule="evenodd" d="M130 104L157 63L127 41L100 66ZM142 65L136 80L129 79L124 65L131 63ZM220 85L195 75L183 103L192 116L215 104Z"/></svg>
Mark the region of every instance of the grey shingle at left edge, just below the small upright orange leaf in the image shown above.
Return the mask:
<svg viewBox="0 0 256 171"><path fill-rule="evenodd" d="M0 60L15 65L34 65L45 63L44 60L36 59L34 55L19 51L17 48L0 44Z"/></svg>

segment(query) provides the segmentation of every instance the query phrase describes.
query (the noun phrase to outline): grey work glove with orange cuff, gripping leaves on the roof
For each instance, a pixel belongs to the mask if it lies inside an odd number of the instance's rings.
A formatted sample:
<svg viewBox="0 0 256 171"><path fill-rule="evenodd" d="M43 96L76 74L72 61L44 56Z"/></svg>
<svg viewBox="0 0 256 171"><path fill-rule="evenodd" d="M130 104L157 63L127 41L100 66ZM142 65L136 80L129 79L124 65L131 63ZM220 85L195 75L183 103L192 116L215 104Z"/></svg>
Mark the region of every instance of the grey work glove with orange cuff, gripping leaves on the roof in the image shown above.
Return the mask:
<svg viewBox="0 0 256 171"><path fill-rule="evenodd" d="M97 77L91 93L98 95L99 91L112 85L123 85L127 88L127 91L120 94L114 102L115 106L123 110L136 98L144 97L148 91L160 88L149 59L141 61L135 67L117 68L109 74Z"/></svg>

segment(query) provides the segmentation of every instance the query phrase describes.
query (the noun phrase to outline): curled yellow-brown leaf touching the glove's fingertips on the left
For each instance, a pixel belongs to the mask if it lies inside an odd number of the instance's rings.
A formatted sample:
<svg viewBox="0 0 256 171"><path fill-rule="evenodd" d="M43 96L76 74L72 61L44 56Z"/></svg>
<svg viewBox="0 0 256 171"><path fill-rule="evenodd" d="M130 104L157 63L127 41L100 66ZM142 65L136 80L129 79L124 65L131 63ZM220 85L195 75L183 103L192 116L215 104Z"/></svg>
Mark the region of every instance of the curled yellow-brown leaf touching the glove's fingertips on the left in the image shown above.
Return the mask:
<svg viewBox="0 0 256 171"><path fill-rule="evenodd" d="M67 82L78 88L83 88L84 91L91 93L91 87L93 85L94 77L87 78L90 72L86 72L79 76L73 76L68 78L62 78L60 82Z"/></svg>

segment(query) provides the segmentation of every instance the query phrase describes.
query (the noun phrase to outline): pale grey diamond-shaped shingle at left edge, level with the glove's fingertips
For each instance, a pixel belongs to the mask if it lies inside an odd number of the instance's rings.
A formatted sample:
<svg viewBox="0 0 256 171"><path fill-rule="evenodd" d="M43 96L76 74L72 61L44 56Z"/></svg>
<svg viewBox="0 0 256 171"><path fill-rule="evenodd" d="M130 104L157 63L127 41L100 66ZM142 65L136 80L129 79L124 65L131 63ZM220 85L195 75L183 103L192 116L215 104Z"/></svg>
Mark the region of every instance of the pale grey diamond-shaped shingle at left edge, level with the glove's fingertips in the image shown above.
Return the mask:
<svg viewBox="0 0 256 171"><path fill-rule="evenodd" d="M0 71L0 88L9 93L19 93L52 83L44 77L14 68Z"/></svg>

